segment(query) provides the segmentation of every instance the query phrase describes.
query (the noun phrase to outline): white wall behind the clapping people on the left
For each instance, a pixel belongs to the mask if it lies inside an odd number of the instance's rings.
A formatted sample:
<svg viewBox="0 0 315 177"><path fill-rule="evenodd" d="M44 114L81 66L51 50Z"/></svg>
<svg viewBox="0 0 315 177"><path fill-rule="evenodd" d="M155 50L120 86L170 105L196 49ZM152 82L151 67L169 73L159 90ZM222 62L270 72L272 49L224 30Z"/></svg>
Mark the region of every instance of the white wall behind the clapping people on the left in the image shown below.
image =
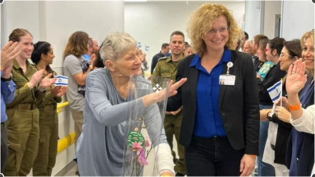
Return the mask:
<svg viewBox="0 0 315 177"><path fill-rule="evenodd" d="M1 39L4 37L6 42L13 29L28 29L34 42L44 40L52 44L56 55L52 68L60 74L63 73L63 50L71 33L83 30L100 43L109 32L124 30L124 1L23 0L4 1L3 5L4 36ZM59 137L72 131L73 120L66 108L59 114ZM72 145L57 155L52 176L73 160L74 152Z"/></svg>

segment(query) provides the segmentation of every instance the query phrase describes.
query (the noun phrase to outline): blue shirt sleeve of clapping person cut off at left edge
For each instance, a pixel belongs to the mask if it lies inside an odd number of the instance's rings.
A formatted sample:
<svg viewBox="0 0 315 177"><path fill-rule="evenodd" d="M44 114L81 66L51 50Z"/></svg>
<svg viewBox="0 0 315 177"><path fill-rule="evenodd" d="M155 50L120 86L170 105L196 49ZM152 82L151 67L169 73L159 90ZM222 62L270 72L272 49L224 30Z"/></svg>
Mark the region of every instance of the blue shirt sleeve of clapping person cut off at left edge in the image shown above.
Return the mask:
<svg viewBox="0 0 315 177"><path fill-rule="evenodd" d="M5 104L11 103L13 101L15 89L16 85L12 80L9 82L1 81L1 123L5 122L7 119L7 116L5 114Z"/></svg>

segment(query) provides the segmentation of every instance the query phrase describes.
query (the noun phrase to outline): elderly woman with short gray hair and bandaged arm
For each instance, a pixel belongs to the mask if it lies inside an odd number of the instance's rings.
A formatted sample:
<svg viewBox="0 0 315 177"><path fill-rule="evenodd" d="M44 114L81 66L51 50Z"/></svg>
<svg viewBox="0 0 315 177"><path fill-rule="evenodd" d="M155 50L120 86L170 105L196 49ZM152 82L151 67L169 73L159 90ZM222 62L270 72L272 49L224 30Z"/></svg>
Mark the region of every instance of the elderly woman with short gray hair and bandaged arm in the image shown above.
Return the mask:
<svg viewBox="0 0 315 177"><path fill-rule="evenodd" d="M105 68L92 71L86 82L84 123L78 140L76 157L81 176L122 176L124 138L127 131L128 104L143 103L148 108L146 124L155 150L158 148L159 175L174 176L173 157L162 127L158 106L165 94L172 96L187 79L172 85L169 92L160 91L128 100L131 75L141 75L141 59L136 40L125 32L109 34L99 51ZM140 83L149 84L144 78ZM129 102L129 103L128 103ZM160 138L158 138L160 137Z"/></svg>

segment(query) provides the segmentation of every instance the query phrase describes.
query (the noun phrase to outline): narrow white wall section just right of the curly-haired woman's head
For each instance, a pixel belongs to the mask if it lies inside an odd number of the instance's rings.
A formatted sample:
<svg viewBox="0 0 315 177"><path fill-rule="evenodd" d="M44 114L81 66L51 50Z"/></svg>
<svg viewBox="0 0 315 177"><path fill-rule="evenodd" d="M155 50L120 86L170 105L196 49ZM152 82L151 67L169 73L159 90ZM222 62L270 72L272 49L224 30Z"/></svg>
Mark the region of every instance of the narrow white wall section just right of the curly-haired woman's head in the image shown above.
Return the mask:
<svg viewBox="0 0 315 177"><path fill-rule="evenodd" d="M260 0L246 0L245 1L245 31L252 40L254 35L260 34L261 27L261 1Z"/></svg>

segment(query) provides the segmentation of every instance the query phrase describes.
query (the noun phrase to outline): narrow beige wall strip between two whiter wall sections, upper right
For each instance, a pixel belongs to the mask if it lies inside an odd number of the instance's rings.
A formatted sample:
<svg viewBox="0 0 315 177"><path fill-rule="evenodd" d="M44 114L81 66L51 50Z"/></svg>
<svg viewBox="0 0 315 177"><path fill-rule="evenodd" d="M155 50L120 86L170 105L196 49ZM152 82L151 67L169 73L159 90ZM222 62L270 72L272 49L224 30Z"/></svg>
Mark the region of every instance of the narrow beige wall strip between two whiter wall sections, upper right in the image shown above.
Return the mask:
<svg viewBox="0 0 315 177"><path fill-rule="evenodd" d="M264 13L264 35L275 37L275 15L281 14L281 0L266 0Z"/></svg>

